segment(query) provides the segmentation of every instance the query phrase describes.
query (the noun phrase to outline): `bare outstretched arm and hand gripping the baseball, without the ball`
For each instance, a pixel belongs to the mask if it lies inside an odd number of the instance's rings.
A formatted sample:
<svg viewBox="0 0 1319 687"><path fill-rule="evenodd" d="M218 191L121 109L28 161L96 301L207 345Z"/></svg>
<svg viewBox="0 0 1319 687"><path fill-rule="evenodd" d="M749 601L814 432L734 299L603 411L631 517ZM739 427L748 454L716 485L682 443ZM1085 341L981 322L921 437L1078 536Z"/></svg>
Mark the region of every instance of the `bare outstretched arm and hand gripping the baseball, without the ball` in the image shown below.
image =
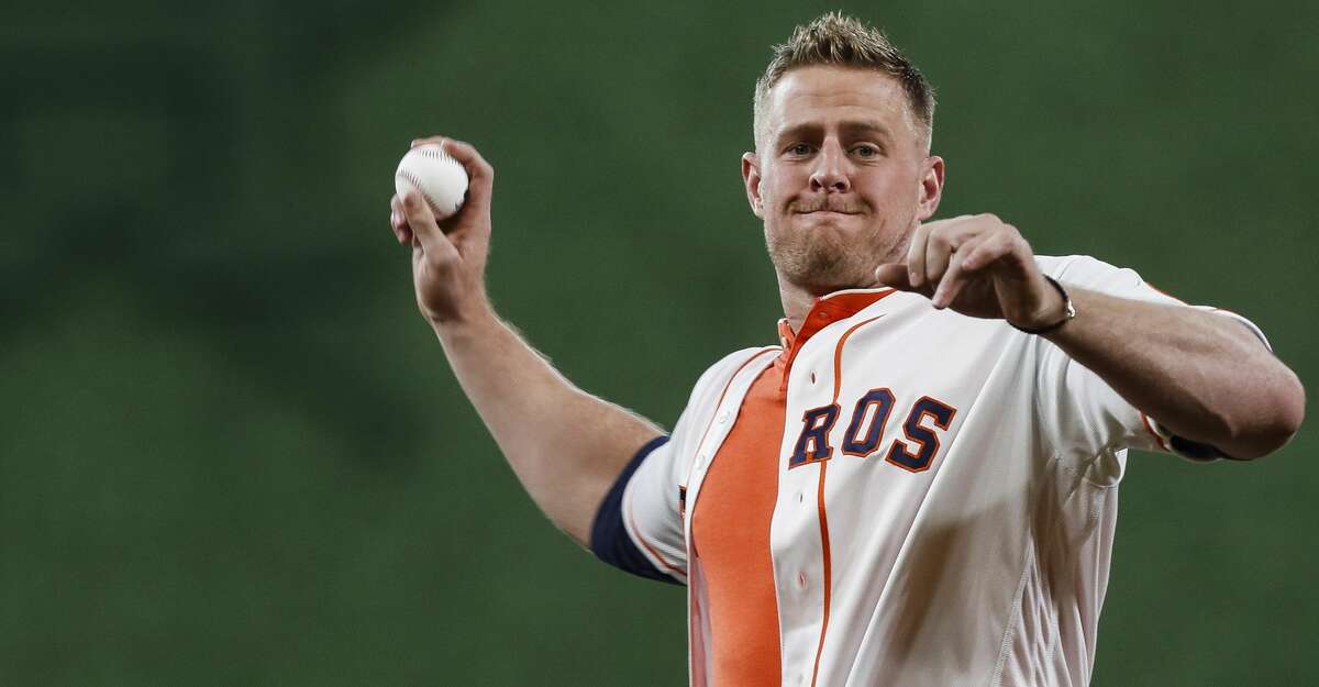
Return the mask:
<svg viewBox="0 0 1319 687"><path fill-rule="evenodd" d="M493 170L463 142L442 144L467 167L462 210L437 223L418 194L392 200L390 225L413 247L417 305L459 384L541 510L583 546L604 494L628 460L663 431L596 398L555 371L495 313L485 295Z"/></svg>

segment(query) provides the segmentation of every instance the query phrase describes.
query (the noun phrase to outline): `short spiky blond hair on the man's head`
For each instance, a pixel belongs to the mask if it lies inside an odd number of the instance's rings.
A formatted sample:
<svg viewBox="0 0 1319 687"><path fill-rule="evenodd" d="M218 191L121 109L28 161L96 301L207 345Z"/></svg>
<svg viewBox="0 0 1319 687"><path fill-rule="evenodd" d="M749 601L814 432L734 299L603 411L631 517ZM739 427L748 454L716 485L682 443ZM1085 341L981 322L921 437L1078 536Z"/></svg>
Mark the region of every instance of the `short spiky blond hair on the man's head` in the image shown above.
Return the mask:
<svg viewBox="0 0 1319 687"><path fill-rule="evenodd" d="M934 88L906 55L880 29L842 12L827 12L793 29L786 44L774 46L765 74L756 79L752 134L756 146L765 142L765 107L769 91L790 70L810 66L869 69L897 79L915 115L926 146L934 131Z"/></svg>

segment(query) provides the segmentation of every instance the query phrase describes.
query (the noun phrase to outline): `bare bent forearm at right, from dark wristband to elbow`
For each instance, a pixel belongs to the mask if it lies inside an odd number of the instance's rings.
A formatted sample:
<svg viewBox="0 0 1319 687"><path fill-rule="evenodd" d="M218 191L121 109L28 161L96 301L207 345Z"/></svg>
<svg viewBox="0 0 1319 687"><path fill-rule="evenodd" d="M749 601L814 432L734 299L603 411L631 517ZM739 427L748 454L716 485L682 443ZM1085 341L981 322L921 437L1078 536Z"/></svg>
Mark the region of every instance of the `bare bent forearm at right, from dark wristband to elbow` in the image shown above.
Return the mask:
<svg viewBox="0 0 1319 687"><path fill-rule="evenodd" d="M1241 459L1269 454L1295 434L1304 390L1241 323L1068 291L1078 316L1047 338L1174 434Z"/></svg>

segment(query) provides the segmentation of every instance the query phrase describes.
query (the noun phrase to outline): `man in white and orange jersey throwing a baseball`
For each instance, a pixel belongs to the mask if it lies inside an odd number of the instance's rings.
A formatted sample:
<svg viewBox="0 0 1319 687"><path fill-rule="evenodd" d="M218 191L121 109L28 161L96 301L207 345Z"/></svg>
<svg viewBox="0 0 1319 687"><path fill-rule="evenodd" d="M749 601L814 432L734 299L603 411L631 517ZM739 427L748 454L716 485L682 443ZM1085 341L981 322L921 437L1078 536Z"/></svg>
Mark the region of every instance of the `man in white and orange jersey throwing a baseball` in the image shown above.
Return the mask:
<svg viewBox="0 0 1319 687"><path fill-rule="evenodd" d="M1246 460L1304 392L1246 319L993 215L934 220L934 98L874 29L798 28L741 170L783 319L671 433L563 378L492 310L493 170L437 224L393 199L417 303L518 479L576 542L686 584L696 686L1084 686L1129 447ZM590 418L590 440L579 433Z"/></svg>

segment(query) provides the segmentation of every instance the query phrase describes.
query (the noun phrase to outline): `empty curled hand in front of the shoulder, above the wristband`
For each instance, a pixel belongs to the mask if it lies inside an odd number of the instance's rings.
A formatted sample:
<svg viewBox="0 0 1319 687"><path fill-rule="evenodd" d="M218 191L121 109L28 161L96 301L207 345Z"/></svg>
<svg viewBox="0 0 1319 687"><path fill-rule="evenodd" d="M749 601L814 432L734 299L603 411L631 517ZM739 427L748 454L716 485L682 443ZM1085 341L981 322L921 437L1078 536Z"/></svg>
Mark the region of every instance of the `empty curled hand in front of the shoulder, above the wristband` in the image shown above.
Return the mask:
<svg viewBox="0 0 1319 687"><path fill-rule="evenodd" d="M930 298L973 318L1006 319L1041 328L1063 316L1063 299L1045 281L1030 244L993 215L969 215L918 224L906 264L874 270L880 284Z"/></svg>

